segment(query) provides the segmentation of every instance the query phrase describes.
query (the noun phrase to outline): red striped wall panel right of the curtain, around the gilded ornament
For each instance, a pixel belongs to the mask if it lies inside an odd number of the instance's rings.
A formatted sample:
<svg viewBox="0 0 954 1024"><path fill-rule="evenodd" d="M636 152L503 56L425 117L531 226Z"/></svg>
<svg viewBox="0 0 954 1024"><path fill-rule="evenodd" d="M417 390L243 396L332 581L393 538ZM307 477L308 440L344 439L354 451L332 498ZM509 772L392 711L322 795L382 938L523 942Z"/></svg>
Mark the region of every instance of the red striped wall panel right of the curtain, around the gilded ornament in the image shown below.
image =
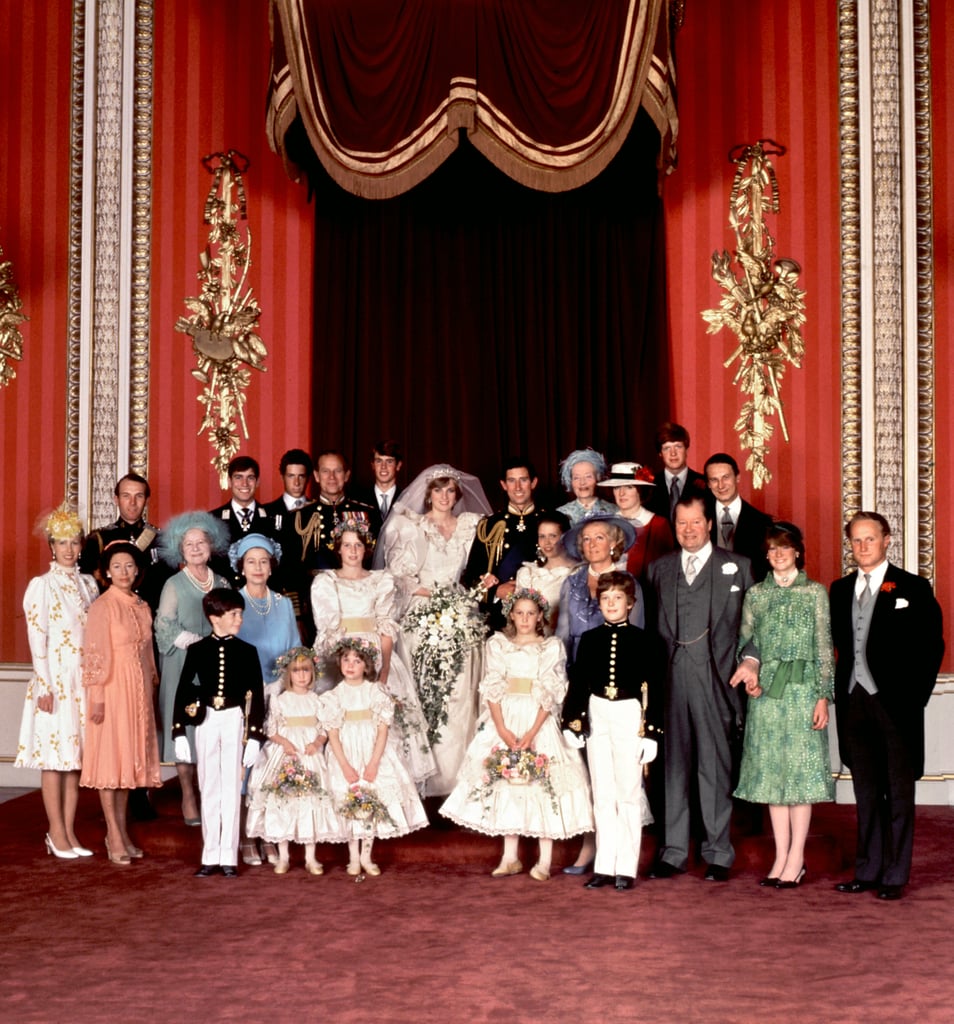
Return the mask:
<svg viewBox="0 0 954 1024"><path fill-rule="evenodd" d="M773 480L743 493L806 532L808 568L828 583L840 571L840 407L838 270L838 117L835 5L828 0L763 4L746 0L686 5L676 37L679 166L664 185L673 352L673 418L692 435L690 465L727 451L740 465L747 452L733 426L742 403L723 369L735 348L726 331L705 333L702 309L719 304L713 250L734 248L729 151L773 138L787 154L773 158L782 210L772 218L776 253L803 266L808 323L806 357L789 369L782 398L791 443L776 429Z"/></svg>

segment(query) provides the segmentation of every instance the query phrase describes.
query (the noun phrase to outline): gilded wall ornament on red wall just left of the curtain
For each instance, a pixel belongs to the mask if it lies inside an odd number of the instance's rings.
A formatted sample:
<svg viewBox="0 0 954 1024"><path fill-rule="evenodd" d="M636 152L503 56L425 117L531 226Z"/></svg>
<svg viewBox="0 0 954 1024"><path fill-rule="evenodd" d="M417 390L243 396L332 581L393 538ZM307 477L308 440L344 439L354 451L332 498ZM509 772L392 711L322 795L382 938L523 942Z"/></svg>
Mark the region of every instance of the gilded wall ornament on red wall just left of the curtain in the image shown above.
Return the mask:
<svg viewBox="0 0 954 1024"><path fill-rule="evenodd" d="M249 437L245 417L249 368L264 372L268 349L255 333L262 310L248 282L252 232L248 225L240 229L240 221L246 220L242 175L249 160L229 150L205 157L203 166L212 175L212 187L203 214L211 225L209 244L199 255L202 292L184 300L191 314L180 316L176 330L192 339L198 364L192 376L204 385L198 400L206 410L198 433L208 431L216 452L210 461L224 489L228 463L237 455L242 437Z"/></svg>

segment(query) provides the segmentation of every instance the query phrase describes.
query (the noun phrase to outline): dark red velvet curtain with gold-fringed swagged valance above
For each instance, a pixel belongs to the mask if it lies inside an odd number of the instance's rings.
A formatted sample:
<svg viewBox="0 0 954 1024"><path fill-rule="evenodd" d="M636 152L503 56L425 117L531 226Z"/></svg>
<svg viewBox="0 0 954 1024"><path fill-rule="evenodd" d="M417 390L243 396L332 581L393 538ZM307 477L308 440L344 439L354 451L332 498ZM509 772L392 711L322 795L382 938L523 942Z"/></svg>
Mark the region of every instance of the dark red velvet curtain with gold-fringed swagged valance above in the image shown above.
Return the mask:
<svg viewBox="0 0 954 1024"><path fill-rule="evenodd" d="M269 137L314 190L315 450L396 437L409 474L448 460L491 486L515 452L545 485L583 444L651 462L666 0L271 15Z"/></svg>

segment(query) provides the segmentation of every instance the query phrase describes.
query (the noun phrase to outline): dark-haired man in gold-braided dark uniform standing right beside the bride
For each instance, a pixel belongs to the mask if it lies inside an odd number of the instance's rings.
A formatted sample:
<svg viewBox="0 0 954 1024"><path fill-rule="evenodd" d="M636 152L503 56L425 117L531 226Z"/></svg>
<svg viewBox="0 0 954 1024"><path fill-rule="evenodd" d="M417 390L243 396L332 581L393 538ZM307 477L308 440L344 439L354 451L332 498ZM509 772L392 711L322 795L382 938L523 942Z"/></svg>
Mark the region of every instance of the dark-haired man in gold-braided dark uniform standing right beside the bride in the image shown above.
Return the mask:
<svg viewBox="0 0 954 1024"><path fill-rule="evenodd" d="M471 548L464 583L478 584L486 592L482 604L490 612L490 625L502 630L506 623L501 602L516 587L517 569L536 555L536 527L540 510L533 504L536 471L529 459L508 459L501 473L501 486L507 494L507 509L484 516L477 524L477 537Z"/></svg>

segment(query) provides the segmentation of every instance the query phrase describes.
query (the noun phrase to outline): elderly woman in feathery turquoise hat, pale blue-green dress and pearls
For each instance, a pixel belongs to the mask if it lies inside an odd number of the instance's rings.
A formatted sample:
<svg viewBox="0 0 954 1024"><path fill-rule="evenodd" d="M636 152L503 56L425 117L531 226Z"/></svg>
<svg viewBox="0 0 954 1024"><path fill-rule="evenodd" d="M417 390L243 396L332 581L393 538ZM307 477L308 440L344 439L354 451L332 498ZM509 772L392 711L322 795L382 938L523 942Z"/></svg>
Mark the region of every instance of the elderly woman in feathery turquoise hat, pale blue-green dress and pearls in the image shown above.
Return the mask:
<svg viewBox="0 0 954 1024"><path fill-rule="evenodd" d="M228 527L208 512L183 512L170 519L161 534L160 557L179 569L166 581L156 613L156 645L159 648L159 707L162 716L162 760L176 763L182 787L182 817L198 825L199 802L196 795L196 737L189 726L190 763L178 761L172 739L172 714L179 676L190 644L212 632L202 610L202 599L214 587L228 587L224 577L213 572L209 559L223 555L228 548Z"/></svg>

